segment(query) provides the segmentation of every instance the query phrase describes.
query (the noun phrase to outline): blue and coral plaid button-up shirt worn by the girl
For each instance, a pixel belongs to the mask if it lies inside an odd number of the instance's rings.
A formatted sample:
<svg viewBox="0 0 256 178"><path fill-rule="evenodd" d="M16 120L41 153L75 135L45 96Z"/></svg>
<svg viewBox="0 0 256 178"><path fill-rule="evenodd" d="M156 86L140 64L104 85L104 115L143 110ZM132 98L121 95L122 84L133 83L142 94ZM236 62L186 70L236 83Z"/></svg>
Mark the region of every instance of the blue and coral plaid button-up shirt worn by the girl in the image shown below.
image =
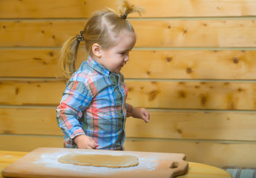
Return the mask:
<svg viewBox="0 0 256 178"><path fill-rule="evenodd" d="M125 103L127 88L121 73L111 73L91 56L73 73L57 107L57 122L65 133L65 148L77 148L73 139L85 134L98 149L122 149L125 119L132 106Z"/></svg>

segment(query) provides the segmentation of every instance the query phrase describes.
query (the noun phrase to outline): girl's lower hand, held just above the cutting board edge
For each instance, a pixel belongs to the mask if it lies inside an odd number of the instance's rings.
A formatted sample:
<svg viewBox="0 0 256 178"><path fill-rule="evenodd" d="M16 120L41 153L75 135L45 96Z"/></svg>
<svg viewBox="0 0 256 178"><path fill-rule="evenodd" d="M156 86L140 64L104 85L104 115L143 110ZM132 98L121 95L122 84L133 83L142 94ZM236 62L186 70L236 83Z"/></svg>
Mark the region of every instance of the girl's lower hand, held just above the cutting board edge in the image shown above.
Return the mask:
<svg viewBox="0 0 256 178"><path fill-rule="evenodd" d="M96 149L99 145L90 136L79 135L73 140L78 148Z"/></svg>

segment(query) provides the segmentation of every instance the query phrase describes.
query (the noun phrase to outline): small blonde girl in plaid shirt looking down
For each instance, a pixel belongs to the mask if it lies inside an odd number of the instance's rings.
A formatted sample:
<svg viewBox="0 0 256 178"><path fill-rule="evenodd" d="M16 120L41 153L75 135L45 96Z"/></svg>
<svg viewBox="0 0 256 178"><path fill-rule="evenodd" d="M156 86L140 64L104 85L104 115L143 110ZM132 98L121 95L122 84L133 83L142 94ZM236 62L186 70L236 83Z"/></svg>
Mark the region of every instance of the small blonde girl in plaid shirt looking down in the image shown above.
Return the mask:
<svg viewBox="0 0 256 178"><path fill-rule="evenodd" d="M127 88L119 72L136 42L134 28L125 19L129 13L140 11L122 1L121 16L112 10L93 13L81 35L63 45L60 61L68 83L56 111L65 133L65 148L123 150L126 117L148 122L145 108L125 103ZM73 73L76 52L83 41L90 56Z"/></svg>

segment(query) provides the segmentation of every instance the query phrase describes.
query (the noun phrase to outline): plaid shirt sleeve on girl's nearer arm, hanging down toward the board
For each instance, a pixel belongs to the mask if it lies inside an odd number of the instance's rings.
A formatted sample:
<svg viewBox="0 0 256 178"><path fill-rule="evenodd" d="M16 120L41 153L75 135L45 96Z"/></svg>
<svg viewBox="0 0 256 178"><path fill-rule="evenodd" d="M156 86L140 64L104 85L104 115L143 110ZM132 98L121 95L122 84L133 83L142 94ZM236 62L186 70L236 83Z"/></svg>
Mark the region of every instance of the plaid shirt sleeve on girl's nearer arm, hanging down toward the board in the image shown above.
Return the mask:
<svg viewBox="0 0 256 178"><path fill-rule="evenodd" d="M73 139L85 134L82 130L82 115L91 100L91 91L84 83L78 81L68 83L60 105L56 109L59 128L65 133L65 138L68 138L65 140L67 145L74 146Z"/></svg>

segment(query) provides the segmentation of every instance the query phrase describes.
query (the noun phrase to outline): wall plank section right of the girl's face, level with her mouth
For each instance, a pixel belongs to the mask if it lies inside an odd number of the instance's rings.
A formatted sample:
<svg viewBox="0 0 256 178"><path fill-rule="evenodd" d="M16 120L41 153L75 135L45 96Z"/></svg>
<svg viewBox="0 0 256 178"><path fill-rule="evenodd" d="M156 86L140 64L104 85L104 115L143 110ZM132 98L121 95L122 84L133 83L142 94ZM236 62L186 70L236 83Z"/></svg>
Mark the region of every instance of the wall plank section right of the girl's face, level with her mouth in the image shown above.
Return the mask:
<svg viewBox="0 0 256 178"><path fill-rule="evenodd" d="M256 50L133 50L122 73L131 79L255 79L255 56Z"/></svg>

